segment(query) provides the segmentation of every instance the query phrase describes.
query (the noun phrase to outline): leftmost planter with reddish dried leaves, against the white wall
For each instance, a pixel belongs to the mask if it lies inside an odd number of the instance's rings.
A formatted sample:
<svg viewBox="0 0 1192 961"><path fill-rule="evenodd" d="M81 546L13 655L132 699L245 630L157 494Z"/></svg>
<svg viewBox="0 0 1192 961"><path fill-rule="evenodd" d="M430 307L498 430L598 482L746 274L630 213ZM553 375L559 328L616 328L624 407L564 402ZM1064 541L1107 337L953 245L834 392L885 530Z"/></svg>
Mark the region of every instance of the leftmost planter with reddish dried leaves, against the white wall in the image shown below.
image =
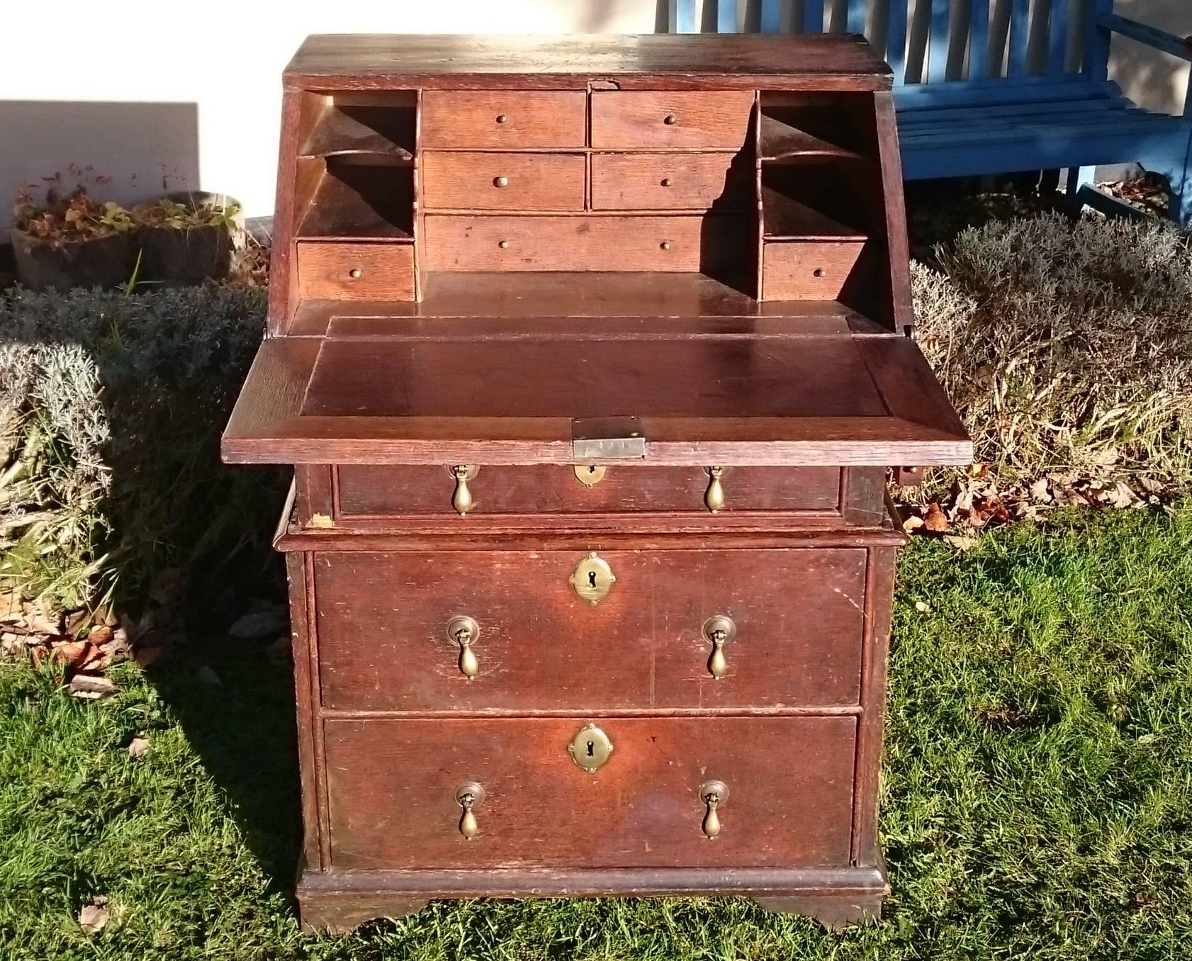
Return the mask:
<svg viewBox="0 0 1192 961"><path fill-rule="evenodd" d="M131 273L136 222L119 204L83 186L51 187L45 200L23 184L13 205L12 246L21 284L33 290L113 287Z"/></svg>

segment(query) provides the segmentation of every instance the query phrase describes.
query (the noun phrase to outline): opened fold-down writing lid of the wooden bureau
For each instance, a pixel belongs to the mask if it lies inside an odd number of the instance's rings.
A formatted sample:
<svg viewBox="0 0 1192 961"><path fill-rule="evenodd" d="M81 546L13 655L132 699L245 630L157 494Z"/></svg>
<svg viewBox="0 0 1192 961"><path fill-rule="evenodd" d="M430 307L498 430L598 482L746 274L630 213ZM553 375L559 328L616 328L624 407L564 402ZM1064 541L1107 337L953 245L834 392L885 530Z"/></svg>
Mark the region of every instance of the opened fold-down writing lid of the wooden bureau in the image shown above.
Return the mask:
<svg viewBox="0 0 1192 961"><path fill-rule="evenodd" d="M971 444L912 341L771 336L743 322L266 341L224 433L234 463L571 464L637 418L647 465L964 464ZM693 327L694 324L694 327ZM584 330L590 333L585 334ZM608 428L615 433L615 428Z"/></svg>

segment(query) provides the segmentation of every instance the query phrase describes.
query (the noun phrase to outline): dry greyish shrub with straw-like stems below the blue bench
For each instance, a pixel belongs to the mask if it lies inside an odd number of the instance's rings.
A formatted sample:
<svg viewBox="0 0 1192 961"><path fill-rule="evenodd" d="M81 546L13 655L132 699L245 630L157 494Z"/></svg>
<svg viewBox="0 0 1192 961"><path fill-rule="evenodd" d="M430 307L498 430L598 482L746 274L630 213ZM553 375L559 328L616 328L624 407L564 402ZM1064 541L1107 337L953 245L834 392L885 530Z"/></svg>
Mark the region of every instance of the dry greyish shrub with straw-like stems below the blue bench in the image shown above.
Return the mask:
<svg viewBox="0 0 1192 961"><path fill-rule="evenodd" d="M942 273L913 273L919 341L1002 490L1044 490L1048 475L1143 494L1192 483L1187 237L1047 215L966 230L937 255Z"/></svg>

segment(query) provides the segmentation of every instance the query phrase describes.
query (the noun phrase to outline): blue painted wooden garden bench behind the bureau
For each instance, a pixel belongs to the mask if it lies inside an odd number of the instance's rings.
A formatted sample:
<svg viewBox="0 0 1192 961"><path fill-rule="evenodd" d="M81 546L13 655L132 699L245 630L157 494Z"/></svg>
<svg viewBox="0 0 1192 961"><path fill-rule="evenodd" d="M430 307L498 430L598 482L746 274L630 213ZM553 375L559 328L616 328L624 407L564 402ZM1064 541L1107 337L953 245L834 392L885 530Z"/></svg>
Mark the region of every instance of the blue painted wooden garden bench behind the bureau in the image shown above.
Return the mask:
<svg viewBox="0 0 1192 961"><path fill-rule="evenodd" d="M1190 62L1192 42L1115 14L1113 0L1035 0L1033 20L1030 0L927 0L915 23L911 0L703 0L699 23L696 0L670 2L681 33L865 33L894 72L907 180L1067 168L1074 200L1105 210L1093 167L1137 162L1167 178L1173 218L1192 227L1192 81L1174 117L1107 79L1112 33Z"/></svg>

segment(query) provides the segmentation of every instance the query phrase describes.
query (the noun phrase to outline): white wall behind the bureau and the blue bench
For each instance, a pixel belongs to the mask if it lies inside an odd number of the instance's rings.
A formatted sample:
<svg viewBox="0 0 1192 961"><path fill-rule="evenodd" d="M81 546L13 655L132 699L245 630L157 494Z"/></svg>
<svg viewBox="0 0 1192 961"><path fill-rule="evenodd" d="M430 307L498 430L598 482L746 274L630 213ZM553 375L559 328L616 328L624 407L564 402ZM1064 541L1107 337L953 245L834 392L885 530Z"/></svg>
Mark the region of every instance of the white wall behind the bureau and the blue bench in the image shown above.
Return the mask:
<svg viewBox="0 0 1192 961"><path fill-rule="evenodd" d="M111 176L104 191L125 203L201 187L237 196L248 216L268 213L280 74L308 33L642 33L665 24L666 8L665 0L60 0L52 8L0 0L0 223L20 181L72 161ZM1118 0L1118 10L1192 35L1190 0ZM1115 74L1148 106L1172 108L1182 95L1186 69L1171 58L1120 41L1115 60Z"/></svg>

